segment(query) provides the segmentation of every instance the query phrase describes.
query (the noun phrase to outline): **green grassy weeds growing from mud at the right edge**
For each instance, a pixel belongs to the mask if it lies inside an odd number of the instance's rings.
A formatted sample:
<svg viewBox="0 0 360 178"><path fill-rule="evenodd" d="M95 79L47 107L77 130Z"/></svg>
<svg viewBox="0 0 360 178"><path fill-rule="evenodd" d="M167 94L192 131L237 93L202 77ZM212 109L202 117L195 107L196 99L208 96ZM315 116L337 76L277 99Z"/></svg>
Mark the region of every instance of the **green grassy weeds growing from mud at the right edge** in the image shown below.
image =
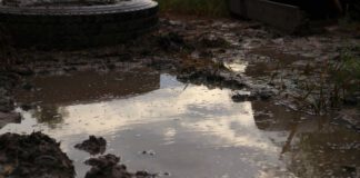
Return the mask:
<svg viewBox="0 0 360 178"><path fill-rule="evenodd" d="M298 99L304 108L323 115L343 103L358 105L360 97L360 47L342 49L340 57L328 60L318 77L309 77L302 83L304 93Z"/></svg>

